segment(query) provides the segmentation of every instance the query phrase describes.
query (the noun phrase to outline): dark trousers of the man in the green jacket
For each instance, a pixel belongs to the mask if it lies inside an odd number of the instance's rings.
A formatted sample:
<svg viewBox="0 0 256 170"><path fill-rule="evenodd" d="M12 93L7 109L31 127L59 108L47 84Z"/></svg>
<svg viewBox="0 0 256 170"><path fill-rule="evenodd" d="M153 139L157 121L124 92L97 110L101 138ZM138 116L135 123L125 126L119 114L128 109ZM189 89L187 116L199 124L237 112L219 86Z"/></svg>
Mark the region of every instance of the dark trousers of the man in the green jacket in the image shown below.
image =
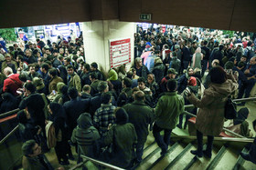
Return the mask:
<svg viewBox="0 0 256 170"><path fill-rule="evenodd" d="M164 139L160 135L160 132L164 130ZM164 129L159 127L158 125L153 126L153 135L155 137L155 141L157 145L162 149L162 152L166 152L168 149L168 145L170 144L170 138L171 138L172 129Z"/></svg>

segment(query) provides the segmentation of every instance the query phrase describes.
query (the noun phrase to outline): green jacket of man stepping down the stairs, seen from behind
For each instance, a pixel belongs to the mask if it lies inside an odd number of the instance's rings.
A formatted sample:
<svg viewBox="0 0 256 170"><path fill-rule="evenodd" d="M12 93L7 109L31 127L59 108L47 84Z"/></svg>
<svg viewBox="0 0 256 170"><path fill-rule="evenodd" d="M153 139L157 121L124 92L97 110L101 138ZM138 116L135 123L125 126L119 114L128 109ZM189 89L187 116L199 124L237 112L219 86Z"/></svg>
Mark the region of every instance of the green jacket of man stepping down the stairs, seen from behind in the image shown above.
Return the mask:
<svg viewBox="0 0 256 170"><path fill-rule="evenodd" d="M155 107L155 124L164 129L174 129L178 116L184 111L184 99L177 92L162 95Z"/></svg>

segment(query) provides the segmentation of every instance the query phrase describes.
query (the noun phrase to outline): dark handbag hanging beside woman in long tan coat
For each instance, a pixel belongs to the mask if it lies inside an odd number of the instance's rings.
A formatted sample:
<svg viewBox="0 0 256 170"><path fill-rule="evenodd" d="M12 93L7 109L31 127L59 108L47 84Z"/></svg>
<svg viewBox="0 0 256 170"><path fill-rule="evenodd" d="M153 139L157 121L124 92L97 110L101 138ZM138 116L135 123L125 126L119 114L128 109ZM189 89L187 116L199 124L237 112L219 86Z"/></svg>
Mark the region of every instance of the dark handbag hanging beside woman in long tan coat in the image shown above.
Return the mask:
<svg viewBox="0 0 256 170"><path fill-rule="evenodd" d="M237 118L237 116L237 105L232 101L231 96L229 95L225 104L224 117L226 119L234 119Z"/></svg>

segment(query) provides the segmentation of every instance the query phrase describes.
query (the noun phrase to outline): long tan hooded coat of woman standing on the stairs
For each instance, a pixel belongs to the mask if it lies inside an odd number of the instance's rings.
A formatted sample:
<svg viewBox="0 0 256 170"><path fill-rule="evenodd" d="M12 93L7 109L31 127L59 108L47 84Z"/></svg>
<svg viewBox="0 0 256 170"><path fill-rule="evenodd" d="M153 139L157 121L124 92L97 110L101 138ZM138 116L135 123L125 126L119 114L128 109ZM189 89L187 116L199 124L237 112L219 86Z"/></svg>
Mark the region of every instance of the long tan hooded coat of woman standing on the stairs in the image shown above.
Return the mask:
<svg viewBox="0 0 256 170"><path fill-rule="evenodd" d="M223 84L211 84L199 100L194 94L187 96L192 105L199 108L197 130L204 135L218 136L224 125L224 107L228 96L238 88L233 76Z"/></svg>

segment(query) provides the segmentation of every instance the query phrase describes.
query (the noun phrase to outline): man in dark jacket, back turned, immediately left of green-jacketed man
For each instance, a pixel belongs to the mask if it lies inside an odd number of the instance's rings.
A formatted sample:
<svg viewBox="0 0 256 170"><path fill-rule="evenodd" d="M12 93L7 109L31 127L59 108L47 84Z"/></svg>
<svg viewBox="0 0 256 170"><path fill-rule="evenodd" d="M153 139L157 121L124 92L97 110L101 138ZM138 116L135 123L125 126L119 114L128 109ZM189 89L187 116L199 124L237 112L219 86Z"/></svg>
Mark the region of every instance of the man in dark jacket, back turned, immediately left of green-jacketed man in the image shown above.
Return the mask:
<svg viewBox="0 0 256 170"><path fill-rule="evenodd" d="M123 109L129 116L129 123L132 123L135 127L138 137L136 145L136 162L142 162L142 156L144 153L144 143L148 135L148 126L152 126L154 120L153 109L148 105L145 105L145 95L143 91L138 91L134 94L135 101L132 104L123 106Z"/></svg>

